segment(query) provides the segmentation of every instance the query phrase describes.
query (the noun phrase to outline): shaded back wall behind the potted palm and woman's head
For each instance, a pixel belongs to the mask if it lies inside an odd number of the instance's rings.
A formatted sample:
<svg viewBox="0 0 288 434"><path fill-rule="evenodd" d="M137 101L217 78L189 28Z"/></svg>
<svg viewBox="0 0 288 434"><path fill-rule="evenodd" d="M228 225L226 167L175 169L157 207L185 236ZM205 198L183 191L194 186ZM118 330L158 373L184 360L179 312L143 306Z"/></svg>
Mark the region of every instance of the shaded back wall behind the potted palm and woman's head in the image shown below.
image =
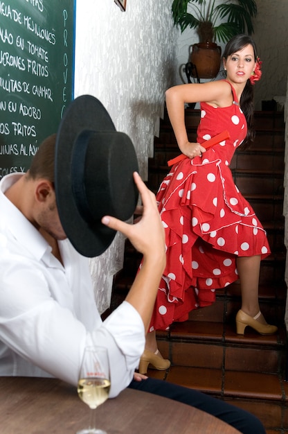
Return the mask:
<svg viewBox="0 0 288 434"><path fill-rule="evenodd" d="M223 3L217 0L217 3ZM285 96L288 64L288 1L256 0L258 15L254 19L253 40L262 63L262 79L255 85L255 109L261 110L261 101L273 96ZM199 42L194 30L178 30L176 83L187 83L183 65L188 62L190 46ZM224 44L219 44L224 49ZM182 76L182 78L181 78ZM202 80L201 80L202 81Z"/></svg>

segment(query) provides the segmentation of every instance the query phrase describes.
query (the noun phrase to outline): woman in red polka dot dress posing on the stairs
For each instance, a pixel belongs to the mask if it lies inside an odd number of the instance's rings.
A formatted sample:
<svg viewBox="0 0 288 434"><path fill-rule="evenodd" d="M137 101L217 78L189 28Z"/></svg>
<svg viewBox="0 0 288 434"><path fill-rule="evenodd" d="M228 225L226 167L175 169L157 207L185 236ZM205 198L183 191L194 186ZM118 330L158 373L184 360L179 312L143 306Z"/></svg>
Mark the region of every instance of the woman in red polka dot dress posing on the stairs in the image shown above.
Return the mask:
<svg viewBox="0 0 288 434"><path fill-rule="evenodd" d="M156 330L185 321L192 309L215 302L215 289L240 279L242 306L237 333L246 325L272 334L258 302L260 261L270 254L266 232L249 202L235 186L229 164L238 146L253 139L253 85L260 79L255 44L237 35L223 55L226 80L174 86L165 94L177 144L183 155L165 177L156 199L165 228L167 265L159 285L139 371L149 363L159 370L170 366L156 345ZM185 103L201 101L197 143L190 143ZM201 146L228 130L230 138Z"/></svg>

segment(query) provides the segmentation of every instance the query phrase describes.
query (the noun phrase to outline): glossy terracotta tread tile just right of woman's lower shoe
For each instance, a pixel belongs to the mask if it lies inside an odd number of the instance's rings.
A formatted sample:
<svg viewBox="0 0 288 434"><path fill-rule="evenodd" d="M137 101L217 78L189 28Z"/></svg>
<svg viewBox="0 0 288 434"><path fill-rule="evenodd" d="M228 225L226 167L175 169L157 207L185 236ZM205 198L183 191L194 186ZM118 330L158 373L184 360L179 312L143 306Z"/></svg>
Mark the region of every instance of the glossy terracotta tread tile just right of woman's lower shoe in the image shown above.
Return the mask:
<svg viewBox="0 0 288 434"><path fill-rule="evenodd" d="M167 381L212 394L222 392L222 370L172 366Z"/></svg>

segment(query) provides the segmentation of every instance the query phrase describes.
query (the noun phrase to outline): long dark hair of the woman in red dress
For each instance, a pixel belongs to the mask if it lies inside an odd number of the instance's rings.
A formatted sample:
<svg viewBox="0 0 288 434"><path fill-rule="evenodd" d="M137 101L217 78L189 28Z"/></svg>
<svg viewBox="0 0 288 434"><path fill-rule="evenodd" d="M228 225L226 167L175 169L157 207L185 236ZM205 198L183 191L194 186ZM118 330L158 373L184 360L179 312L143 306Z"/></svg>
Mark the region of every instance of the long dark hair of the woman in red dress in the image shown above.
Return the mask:
<svg viewBox="0 0 288 434"><path fill-rule="evenodd" d="M255 46L255 42L251 39L251 37L247 35L236 35L234 36L226 45L223 58L226 60L228 55L236 53L236 51L240 51L244 49L244 46L251 45L254 51L255 61L257 59L257 49ZM251 84L250 80L247 80L246 86L242 92L240 98L240 106L241 110L244 113L247 121L247 135L244 140L241 148L246 148L251 141L253 141L255 136L255 131L253 129L253 113L254 113L254 87Z"/></svg>

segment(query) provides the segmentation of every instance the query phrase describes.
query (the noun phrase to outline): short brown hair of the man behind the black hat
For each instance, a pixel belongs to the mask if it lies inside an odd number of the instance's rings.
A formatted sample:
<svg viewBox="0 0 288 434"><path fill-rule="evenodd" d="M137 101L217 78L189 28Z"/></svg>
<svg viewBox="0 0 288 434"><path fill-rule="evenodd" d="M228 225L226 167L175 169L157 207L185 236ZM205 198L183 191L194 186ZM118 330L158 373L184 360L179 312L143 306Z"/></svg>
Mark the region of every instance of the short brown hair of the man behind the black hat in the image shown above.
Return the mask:
<svg viewBox="0 0 288 434"><path fill-rule="evenodd" d="M42 177L54 182L55 143L56 134L52 134L40 144L28 172L28 176L32 177L33 180Z"/></svg>

